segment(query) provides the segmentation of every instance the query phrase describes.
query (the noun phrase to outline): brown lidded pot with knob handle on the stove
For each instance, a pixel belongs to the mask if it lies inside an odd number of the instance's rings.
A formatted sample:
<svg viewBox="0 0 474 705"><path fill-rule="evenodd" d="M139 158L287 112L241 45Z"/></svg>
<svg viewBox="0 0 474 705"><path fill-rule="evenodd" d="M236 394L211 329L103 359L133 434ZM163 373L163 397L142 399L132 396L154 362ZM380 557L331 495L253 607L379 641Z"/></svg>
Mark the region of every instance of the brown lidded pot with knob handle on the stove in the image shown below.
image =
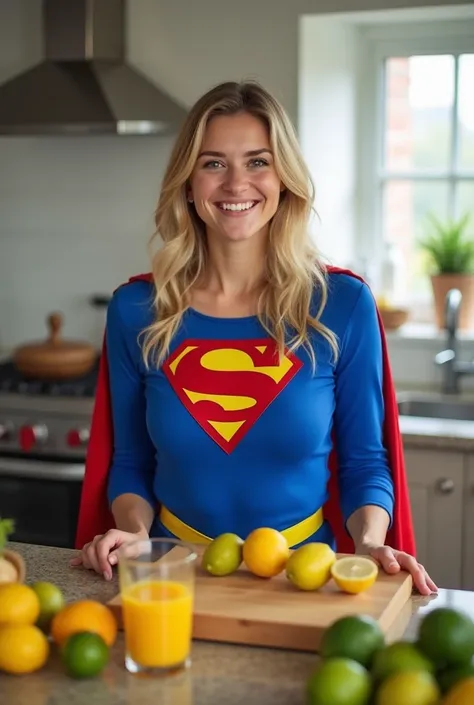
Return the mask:
<svg viewBox="0 0 474 705"><path fill-rule="evenodd" d="M98 351L85 341L67 340L61 336L63 317L51 313L47 318L49 336L18 347L13 363L25 376L36 379L62 380L87 374L94 366Z"/></svg>

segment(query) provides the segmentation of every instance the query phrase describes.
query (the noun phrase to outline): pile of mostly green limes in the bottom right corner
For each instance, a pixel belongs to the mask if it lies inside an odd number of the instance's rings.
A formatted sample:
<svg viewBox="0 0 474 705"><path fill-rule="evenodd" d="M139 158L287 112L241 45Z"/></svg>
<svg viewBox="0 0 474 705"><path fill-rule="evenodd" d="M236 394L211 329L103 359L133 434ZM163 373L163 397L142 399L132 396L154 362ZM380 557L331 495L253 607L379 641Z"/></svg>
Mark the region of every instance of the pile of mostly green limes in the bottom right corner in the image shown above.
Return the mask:
<svg viewBox="0 0 474 705"><path fill-rule="evenodd" d="M319 654L308 705L474 705L474 622L458 610L431 610L415 641L391 644L372 617L342 617Z"/></svg>

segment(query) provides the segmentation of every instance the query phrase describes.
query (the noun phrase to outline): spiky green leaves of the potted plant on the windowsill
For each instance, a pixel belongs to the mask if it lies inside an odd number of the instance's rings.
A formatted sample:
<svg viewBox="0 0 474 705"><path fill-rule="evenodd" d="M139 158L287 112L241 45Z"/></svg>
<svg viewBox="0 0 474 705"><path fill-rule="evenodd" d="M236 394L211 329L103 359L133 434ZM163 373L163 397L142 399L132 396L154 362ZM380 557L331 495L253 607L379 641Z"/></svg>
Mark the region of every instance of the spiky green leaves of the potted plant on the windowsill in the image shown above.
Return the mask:
<svg viewBox="0 0 474 705"><path fill-rule="evenodd" d="M427 216L431 226L419 241L436 274L471 274L474 272L474 235L467 235L470 221L466 213L459 220L439 220L434 214Z"/></svg>

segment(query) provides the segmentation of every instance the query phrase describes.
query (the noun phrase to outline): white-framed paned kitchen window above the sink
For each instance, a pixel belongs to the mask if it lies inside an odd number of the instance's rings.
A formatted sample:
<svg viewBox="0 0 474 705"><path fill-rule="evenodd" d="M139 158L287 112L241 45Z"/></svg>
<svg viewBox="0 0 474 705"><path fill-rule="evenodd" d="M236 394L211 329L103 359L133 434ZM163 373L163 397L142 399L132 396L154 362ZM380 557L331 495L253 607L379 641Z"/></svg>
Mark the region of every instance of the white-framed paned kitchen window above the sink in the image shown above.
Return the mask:
<svg viewBox="0 0 474 705"><path fill-rule="evenodd" d="M412 320L430 321L418 246L428 216L470 213L474 235L474 22L368 28L365 39L363 100L373 117L362 128L361 241L378 272L384 241L395 244Z"/></svg>

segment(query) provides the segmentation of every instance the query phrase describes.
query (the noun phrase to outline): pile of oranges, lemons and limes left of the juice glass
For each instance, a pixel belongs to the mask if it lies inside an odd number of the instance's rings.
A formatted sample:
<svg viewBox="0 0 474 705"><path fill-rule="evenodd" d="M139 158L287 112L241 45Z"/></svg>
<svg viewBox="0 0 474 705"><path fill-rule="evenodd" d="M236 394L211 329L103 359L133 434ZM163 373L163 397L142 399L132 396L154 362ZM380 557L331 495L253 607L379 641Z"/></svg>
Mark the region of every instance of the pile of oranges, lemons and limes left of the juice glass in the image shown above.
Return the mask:
<svg viewBox="0 0 474 705"><path fill-rule="evenodd" d="M0 585L0 671L38 671L54 644L68 675L91 678L106 666L116 636L115 617L100 602L65 604L49 582Z"/></svg>

